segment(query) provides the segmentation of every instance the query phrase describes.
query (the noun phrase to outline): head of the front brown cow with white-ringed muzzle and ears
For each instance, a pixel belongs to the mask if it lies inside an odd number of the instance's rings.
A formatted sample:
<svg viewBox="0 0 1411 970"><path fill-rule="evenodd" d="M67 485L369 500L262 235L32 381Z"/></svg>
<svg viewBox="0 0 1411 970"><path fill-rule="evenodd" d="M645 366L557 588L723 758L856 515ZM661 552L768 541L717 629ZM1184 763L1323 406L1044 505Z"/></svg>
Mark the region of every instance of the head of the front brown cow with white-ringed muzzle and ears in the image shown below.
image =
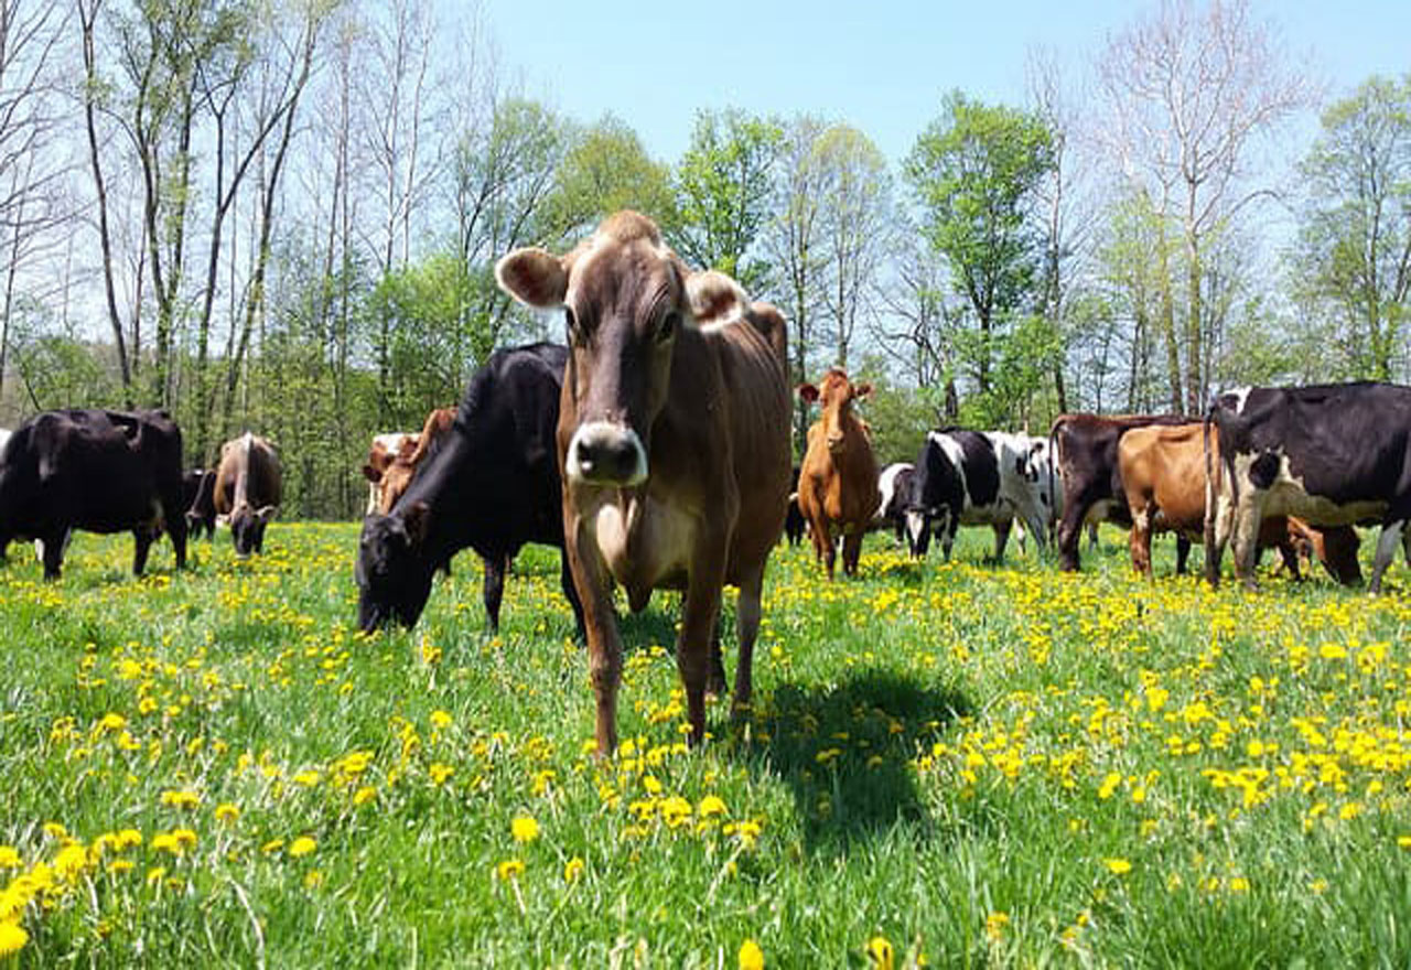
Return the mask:
<svg viewBox="0 0 1411 970"><path fill-rule="evenodd" d="M516 250L495 275L515 299L564 313L567 479L618 488L643 482L677 341L687 329L741 316L744 293L720 274L689 274L656 226L629 211L566 257Z"/></svg>

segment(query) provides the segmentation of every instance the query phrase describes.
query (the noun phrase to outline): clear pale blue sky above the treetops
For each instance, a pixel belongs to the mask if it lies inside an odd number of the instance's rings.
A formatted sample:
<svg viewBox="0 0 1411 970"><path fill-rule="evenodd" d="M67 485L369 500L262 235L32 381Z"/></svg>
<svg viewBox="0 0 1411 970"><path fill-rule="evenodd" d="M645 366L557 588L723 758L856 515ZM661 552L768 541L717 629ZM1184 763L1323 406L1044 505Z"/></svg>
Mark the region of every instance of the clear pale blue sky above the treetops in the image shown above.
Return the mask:
<svg viewBox="0 0 1411 970"><path fill-rule="evenodd" d="M945 92L1022 104L1031 48L1053 49L1077 78L1109 34L1151 8L1115 0L485 0L485 18L502 66L522 72L526 93L580 121L611 111L662 161L680 156L697 109L727 106L848 121L897 161ZM1374 72L1411 70L1407 0L1256 1L1253 13L1335 96Z"/></svg>

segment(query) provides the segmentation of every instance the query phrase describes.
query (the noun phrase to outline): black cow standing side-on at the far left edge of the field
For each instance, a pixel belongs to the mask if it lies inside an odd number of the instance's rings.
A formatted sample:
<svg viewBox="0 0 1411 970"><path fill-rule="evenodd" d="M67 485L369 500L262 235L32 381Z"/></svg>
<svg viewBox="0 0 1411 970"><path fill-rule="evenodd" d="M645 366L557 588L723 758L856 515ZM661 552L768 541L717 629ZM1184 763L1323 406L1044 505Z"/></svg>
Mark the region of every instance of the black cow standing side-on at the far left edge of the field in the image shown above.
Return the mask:
<svg viewBox="0 0 1411 970"><path fill-rule="evenodd" d="M44 540L44 578L58 579L72 529L133 532L133 572L162 529L186 565L181 429L165 413L66 409L21 424L0 454L0 555L11 539Z"/></svg>

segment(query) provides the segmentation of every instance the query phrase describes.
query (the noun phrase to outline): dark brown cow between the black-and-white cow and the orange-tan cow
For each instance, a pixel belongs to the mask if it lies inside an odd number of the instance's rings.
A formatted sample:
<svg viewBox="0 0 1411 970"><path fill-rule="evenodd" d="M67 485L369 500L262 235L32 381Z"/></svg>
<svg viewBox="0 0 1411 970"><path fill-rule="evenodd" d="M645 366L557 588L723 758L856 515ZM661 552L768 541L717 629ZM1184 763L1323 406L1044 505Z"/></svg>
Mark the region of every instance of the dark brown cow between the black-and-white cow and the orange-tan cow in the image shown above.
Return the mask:
<svg viewBox="0 0 1411 970"><path fill-rule="evenodd" d="M1118 472L1118 443L1134 427L1149 424L1188 424L1181 415L1060 415L1048 431L1050 448L1058 458L1062 481L1058 519L1058 567L1078 568L1078 540L1084 524L1112 522L1132 526L1127 502ZM1091 533L1089 533L1091 534ZM1094 537L1094 541L1096 539ZM1177 537L1177 550L1184 537ZM1189 546L1187 546L1189 551Z"/></svg>

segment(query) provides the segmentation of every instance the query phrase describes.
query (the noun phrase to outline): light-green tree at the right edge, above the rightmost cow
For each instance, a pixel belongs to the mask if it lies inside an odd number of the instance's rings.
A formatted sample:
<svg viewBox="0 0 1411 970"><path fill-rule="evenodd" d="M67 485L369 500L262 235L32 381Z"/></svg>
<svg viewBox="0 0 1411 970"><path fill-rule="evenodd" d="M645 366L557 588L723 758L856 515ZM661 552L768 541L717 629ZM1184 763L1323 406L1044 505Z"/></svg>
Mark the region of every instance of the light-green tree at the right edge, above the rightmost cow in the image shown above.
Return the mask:
<svg viewBox="0 0 1411 970"><path fill-rule="evenodd" d="M1340 369L1390 381L1411 310L1411 75L1371 78L1329 107L1301 171L1295 285L1332 320Z"/></svg>

